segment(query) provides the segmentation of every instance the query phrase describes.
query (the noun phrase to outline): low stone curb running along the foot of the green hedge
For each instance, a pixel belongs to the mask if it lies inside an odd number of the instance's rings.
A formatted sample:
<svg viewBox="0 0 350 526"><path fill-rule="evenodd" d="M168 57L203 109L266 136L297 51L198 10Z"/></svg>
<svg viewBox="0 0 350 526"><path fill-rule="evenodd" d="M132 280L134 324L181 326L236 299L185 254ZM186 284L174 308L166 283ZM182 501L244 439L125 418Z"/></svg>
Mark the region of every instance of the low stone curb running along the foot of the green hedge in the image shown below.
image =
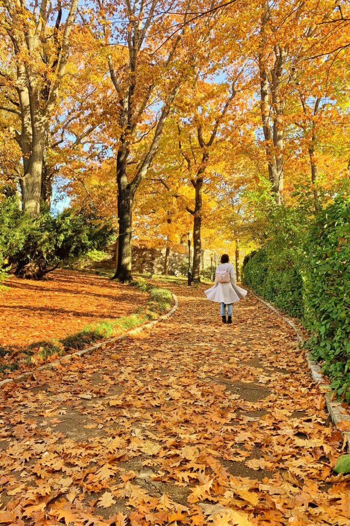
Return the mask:
<svg viewBox="0 0 350 526"><path fill-rule="evenodd" d="M273 310L280 318L282 318L295 332L296 339L300 343L304 343L305 339L303 338L300 330L295 325L292 318L289 318L288 316L285 316L283 312L281 312L279 309L271 305L268 301L265 301L264 299L260 298L257 294L249 290L250 294L254 296L254 298L257 298L263 305L266 305L269 309ZM332 419L332 422L335 427L338 427L339 424L342 422L350 422L350 413L346 411L340 403L338 403L336 400L332 400L332 393L329 392L329 384L326 383L325 377L323 375L322 369L319 366L317 362L311 359L310 353L306 353L306 362L307 366L310 369L312 379L314 382L316 382L319 386L319 389L321 392L324 393L324 399L326 402L326 407L328 410L328 413L330 413L330 417ZM342 431L342 434L344 436L344 441L347 446L347 450L350 452L350 431Z"/></svg>

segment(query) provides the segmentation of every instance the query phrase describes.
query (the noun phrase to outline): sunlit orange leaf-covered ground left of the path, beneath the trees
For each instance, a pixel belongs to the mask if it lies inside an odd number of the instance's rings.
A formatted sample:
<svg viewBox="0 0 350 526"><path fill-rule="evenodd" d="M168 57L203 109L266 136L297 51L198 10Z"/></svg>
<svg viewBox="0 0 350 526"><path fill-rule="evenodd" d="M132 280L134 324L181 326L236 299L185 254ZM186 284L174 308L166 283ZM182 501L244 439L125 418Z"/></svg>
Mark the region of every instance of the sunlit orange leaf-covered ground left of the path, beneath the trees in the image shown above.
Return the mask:
<svg viewBox="0 0 350 526"><path fill-rule="evenodd" d="M135 312L147 297L96 275L55 270L47 280L11 277L0 294L0 346L15 350L63 338L89 323Z"/></svg>

